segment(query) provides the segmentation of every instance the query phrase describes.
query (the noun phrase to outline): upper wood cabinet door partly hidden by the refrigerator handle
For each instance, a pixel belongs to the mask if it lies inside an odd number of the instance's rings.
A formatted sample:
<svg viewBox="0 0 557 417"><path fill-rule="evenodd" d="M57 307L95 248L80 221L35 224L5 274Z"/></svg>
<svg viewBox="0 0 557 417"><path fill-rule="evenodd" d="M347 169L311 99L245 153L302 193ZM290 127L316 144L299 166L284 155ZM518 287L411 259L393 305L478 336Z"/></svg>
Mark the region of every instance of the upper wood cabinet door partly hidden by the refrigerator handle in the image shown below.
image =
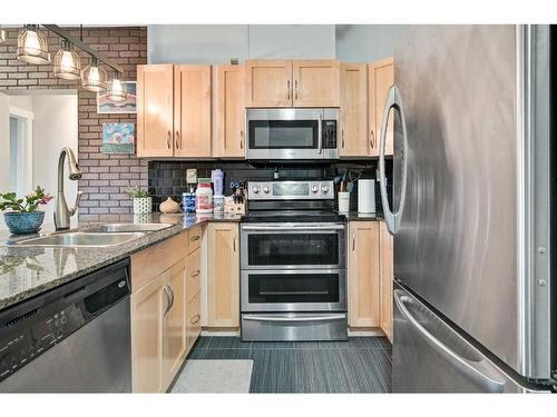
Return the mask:
<svg viewBox="0 0 557 417"><path fill-rule="evenodd" d="M369 122L371 155L379 155L379 140L381 136L381 125L383 122L383 110L387 101L387 92L394 82L392 58L370 63L369 66ZM392 155L393 118L391 116L387 130L385 155Z"/></svg>

